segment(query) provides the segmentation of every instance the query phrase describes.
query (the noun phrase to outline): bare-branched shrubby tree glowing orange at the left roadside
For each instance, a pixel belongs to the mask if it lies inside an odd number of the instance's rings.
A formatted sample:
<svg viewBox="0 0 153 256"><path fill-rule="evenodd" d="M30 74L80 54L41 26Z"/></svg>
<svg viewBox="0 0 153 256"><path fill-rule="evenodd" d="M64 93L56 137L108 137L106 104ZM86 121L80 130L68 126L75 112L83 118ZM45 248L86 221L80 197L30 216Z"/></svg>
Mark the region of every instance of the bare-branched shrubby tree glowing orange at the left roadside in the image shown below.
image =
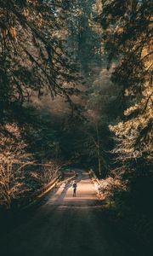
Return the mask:
<svg viewBox="0 0 153 256"><path fill-rule="evenodd" d="M0 204L10 208L14 199L29 190L24 168L32 162L17 125L7 124L4 128L8 135L0 133Z"/></svg>

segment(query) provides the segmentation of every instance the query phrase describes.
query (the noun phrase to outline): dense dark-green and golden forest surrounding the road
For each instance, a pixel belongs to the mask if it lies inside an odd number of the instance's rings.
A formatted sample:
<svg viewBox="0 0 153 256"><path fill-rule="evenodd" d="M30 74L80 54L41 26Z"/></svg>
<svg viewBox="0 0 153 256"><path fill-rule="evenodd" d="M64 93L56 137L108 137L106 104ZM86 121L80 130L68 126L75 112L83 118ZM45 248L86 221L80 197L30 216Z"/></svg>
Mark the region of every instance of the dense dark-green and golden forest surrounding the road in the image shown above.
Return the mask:
<svg viewBox="0 0 153 256"><path fill-rule="evenodd" d="M152 1L0 0L0 211L65 166L153 232Z"/></svg>

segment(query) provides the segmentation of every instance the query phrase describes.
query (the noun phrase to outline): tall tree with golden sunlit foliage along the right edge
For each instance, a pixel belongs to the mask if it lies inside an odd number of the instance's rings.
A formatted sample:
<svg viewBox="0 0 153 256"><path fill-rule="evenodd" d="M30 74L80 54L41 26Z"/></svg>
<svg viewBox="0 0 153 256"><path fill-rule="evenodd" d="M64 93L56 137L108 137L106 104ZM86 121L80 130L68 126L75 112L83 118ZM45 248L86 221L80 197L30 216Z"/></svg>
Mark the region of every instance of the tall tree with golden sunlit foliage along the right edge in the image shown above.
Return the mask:
<svg viewBox="0 0 153 256"><path fill-rule="evenodd" d="M109 61L119 60L111 79L122 86L122 102L127 102L124 119L110 126L117 140L113 152L117 155L120 173L137 170L138 175L149 174L152 162L152 3L137 0L102 3L102 13L97 20L104 29L105 50Z"/></svg>

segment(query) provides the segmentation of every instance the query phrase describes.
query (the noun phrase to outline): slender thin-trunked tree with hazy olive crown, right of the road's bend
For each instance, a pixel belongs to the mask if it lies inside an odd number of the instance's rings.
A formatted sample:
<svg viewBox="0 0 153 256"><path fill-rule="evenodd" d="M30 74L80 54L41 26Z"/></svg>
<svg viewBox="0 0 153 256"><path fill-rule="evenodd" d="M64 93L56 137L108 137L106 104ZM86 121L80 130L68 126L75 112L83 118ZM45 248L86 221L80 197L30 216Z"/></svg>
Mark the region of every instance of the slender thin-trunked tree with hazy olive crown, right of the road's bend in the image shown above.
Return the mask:
<svg viewBox="0 0 153 256"><path fill-rule="evenodd" d="M113 68L112 68L113 70ZM120 89L111 82L111 71L101 68L99 76L88 89L86 111L90 122L88 129L88 148L98 161L99 174L102 177L110 172L113 142L108 125L120 114ZM114 106L116 105L116 108ZM89 146L90 145L90 146ZM97 168L97 165L96 165Z"/></svg>

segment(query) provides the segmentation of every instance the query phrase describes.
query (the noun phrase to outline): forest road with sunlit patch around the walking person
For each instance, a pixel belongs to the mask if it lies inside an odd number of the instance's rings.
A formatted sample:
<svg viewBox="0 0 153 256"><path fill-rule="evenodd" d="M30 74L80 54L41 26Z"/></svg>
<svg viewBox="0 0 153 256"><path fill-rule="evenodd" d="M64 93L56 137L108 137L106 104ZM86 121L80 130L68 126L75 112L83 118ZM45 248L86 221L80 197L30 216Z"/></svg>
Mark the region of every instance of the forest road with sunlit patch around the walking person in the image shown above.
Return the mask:
<svg viewBox="0 0 153 256"><path fill-rule="evenodd" d="M1 256L137 256L103 219L88 173L77 172L77 197L71 183L49 193L31 218L3 238Z"/></svg>

